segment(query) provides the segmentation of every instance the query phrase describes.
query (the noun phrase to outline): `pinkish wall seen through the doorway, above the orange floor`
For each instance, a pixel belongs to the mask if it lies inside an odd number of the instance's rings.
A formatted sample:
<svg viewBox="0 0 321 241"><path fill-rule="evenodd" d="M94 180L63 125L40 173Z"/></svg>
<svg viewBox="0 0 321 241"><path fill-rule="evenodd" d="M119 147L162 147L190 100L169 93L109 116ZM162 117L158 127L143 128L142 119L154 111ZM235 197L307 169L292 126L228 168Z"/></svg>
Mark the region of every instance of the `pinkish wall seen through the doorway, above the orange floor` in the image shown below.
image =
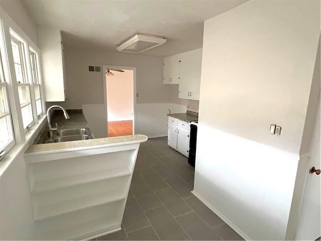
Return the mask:
<svg viewBox="0 0 321 241"><path fill-rule="evenodd" d="M130 121L133 112L133 70L106 76L108 122Z"/></svg>

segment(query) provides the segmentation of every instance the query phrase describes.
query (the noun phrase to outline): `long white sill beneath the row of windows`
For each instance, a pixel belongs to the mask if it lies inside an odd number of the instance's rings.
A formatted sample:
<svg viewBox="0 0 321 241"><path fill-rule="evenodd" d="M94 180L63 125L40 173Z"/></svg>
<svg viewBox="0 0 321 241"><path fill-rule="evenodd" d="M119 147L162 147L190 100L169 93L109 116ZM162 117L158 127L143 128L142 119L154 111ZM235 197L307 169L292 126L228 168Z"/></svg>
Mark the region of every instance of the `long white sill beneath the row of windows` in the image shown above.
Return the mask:
<svg viewBox="0 0 321 241"><path fill-rule="evenodd" d="M11 163L22 153L24 153L30 145L34 142L36 137L41 132L43 126L47 122L47 115L44 114L38 119L38 124L34 124L26 133L26 141L24 143L17 143L11 149L4 159L0 162L0 177L5 173Z"/></svg>

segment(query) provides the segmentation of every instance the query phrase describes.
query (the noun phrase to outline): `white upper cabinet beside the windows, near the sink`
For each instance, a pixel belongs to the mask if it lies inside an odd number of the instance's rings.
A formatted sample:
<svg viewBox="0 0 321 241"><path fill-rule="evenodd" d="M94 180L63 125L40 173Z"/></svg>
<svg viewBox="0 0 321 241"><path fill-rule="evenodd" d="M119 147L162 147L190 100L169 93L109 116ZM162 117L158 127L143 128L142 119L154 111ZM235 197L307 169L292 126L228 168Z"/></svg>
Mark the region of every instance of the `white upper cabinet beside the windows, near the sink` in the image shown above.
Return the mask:
<svg viewBox="0 0 321 241"><path fill-rule="evenodd" d="M65 101L64 49L58 29L38 28L46 101Z"/></svg>

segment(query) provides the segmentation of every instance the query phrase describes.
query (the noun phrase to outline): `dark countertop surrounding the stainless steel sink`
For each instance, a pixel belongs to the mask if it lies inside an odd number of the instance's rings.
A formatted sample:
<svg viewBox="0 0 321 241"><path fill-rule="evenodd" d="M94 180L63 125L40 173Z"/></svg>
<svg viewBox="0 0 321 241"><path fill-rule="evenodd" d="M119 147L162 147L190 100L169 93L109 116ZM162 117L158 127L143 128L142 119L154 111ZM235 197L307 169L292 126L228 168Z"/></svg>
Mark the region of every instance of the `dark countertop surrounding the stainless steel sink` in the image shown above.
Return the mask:
<svg viewBox="0 0 321 241"><path fill-rule="evenodd" d="M93 139L94 136L89 128L88 122L82 113L82 111L75 110L67 110L69 114L69 119L65 119L63 112L60 110L55 110L51 117L51 126L55 128L56 123L58 124L58 130L63 129L78 129L78 128L86 128L87 135ZM36 137L33 145L35 144L44 144L48 140L48 122L46 122L45 126L41 130L40 134Z"/></svg>

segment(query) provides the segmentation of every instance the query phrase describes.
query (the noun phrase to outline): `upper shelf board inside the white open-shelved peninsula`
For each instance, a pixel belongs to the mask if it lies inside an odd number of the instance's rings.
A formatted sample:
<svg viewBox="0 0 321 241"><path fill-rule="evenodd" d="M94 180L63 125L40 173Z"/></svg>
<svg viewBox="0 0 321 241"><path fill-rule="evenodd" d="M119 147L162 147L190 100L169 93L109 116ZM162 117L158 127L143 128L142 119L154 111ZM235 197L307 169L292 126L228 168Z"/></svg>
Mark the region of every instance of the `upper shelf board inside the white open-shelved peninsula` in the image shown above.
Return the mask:
<svg viewBox="0 0 321 241"><path fill-rule="evenodd" d="M32 193L39 193L89 182L101 181L130 174L131 172L127 167L121 167L47 180L38 180L33 186Z"/></svg>

